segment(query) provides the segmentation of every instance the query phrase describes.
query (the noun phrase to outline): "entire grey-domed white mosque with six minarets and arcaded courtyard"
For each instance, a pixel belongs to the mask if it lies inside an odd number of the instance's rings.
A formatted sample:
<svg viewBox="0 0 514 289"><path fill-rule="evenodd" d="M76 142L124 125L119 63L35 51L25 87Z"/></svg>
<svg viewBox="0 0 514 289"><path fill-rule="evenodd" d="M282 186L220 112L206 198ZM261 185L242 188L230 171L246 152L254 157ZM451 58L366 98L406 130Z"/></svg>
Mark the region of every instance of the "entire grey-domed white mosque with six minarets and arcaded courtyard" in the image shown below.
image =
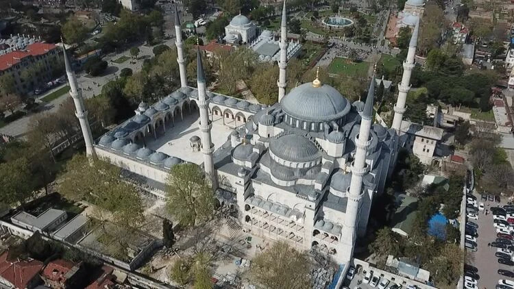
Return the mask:
<svg viewBox="0 0 514 289"><path fill-rule="evenodd" d="M245 231L349 262L356 238L365 235L371 203L395 164L419 23L389 129L373 124L373 79L365 102L350 103L318 77L286 94L285 1L279 101L271 106L206 91L199 51L197 87L187 86L178 18L175 23L182 87L153 105L141 103L135 116L97 140L64 50L87 155L155 184L164 184L182 162L203 165L217 199L236 211L234 220Z"/></svg>

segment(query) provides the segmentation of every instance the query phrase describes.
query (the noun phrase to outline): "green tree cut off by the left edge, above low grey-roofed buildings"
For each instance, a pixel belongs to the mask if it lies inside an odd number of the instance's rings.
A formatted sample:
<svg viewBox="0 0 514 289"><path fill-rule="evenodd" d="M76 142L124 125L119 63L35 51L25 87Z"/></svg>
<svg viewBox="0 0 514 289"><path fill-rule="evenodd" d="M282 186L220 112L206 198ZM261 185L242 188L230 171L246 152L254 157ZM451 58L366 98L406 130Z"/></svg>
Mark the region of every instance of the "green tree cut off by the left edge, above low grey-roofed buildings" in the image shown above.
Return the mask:
<svg viewBox="0 0 514 289"><path fill-rule="evenodd" d="M31 196L32 174L27 159L19 158L0 164L0 203L16 205L25 203Z"/></svg>

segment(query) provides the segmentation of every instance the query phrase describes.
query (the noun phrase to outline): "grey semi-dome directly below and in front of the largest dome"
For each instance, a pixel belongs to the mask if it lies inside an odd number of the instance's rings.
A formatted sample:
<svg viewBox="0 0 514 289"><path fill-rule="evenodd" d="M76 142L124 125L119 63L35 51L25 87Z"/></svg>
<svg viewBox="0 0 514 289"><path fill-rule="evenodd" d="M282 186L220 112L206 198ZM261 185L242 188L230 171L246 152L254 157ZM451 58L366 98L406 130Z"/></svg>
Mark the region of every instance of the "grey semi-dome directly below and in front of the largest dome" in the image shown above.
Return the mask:
<svg viewBox="0 0 514 289"><path fill-rule="evenodd" d="M320 157L316 145L297 134L286 134L271 140L269 149L278 158L291 162L312 162Z"/></svg>

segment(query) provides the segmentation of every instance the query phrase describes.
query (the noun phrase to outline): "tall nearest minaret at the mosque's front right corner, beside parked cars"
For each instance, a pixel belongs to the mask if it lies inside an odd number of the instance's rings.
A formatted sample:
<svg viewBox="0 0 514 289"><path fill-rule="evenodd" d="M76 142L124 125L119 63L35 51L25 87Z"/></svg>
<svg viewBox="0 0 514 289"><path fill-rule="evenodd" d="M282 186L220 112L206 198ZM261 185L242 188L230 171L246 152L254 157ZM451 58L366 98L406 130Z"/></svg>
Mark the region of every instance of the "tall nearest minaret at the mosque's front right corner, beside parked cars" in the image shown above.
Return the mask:
<svg viewBox="0 0 514 289"><path fill-rule="evenodd" d="M373 118L373 102L375 95L375 75L371 77L371 84L367 93L364 111L361 115L360 129L355 138L355 146L357 147L355 159L352 163L352 179L350 182L350 190L347 193L348 202L346 205L345 222L341 233L341 242L343 243L342 260L350 261L354 253L356 241L356 228L358 225L360 206L363 199L363 175L367 173L366 164L367 148L371 142L369 129L371 128L371 120Z"/></svg>

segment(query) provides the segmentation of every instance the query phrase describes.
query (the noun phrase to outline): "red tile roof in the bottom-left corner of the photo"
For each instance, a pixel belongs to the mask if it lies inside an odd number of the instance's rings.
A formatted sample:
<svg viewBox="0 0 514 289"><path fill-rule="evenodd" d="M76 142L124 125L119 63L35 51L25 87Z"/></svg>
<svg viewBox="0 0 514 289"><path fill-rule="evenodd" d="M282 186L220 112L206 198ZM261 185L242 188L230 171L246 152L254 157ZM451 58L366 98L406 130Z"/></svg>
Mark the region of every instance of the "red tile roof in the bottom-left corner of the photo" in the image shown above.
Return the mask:
<svg viewBox="0 0 514 289"><path fill-rule="evenodd" d="M25 288L43 267L38 260L8 260L8 251L0 255L0 276L16 288Z"/></svg>

